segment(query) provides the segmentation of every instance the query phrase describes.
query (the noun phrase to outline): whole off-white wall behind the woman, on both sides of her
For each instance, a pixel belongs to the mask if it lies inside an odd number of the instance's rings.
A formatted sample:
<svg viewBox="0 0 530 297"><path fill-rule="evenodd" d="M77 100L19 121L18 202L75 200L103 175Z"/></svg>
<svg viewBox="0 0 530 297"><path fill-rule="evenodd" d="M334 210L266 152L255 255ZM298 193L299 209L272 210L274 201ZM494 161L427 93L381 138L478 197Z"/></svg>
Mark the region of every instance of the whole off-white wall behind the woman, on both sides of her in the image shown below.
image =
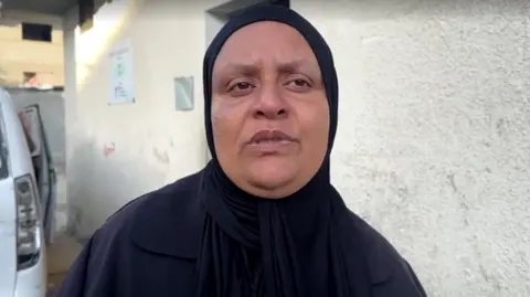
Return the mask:
<svg viewBox="0 0 530 297"><path fill-rule="evenodd" d="M530 8L516 0L292 2L335 52L341 102L332 178L348 205L410 259L430 296L530 296ZM92 31L67 33L65 51L78 63L65 105L78 236L204 165L201 91L192 112L173 110L172 99L173 77L201 75L203 10L214 4L200 3L116 1ZM108 106L106 54L127 39L137 102ZM109 144L115 150L105 156Z"/></svg>

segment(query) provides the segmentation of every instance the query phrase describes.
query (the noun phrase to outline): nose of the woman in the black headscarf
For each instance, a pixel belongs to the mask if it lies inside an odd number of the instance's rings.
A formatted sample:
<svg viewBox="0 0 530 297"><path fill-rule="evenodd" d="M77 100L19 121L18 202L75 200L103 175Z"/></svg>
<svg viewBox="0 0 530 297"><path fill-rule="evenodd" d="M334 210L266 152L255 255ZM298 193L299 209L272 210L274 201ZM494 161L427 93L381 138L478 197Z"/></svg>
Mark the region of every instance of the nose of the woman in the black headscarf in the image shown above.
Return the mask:
<svg viewBox="0 0 530 297"><path fill-rule="evenodd" d="M288 116L288 106L276 85L263 86L256 96L252 115L254 118L282 119Z"/></svg>

